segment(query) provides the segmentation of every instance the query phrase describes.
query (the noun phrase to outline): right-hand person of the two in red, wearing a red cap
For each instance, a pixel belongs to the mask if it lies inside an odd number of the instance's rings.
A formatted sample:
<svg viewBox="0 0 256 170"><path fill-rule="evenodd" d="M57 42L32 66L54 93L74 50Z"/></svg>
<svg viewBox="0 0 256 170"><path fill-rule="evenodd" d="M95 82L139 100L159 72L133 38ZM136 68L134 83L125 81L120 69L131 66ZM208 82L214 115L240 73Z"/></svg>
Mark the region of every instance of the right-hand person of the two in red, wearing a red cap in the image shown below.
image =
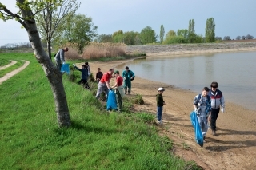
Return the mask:
<svg viewBox="0 0 256 170"><path fill-rule="evenodd" d="M125 96L125 93L123 91L122 87L122 77L119 75L119 71L116 70L114 71L114 76L116 77L116 82L115 84L111 87L112 89L115 89L115 94L116 94L116 101L118 105L118 112L122 112L122 97Z"/></svg>

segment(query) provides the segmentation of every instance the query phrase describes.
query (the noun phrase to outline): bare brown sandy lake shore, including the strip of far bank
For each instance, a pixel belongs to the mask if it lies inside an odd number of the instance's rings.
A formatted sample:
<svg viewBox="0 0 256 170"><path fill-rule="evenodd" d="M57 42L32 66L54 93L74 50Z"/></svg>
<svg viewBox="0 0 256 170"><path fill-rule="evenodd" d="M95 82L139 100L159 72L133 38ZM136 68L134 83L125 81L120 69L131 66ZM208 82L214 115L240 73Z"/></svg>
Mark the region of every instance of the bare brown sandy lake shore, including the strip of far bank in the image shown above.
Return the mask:
<svg viewBox="0 0 256 170"><path fill-rule="evenodd" d="M147 56L184 54L184 53L223 53L237 51L256 51L256 42L222 43L221 45L150 45L131 46L127 53L142 52ZM241 47L241 48L240 48ZM199 50L199 49L200 50ZM219 49L215 49L219 48ZM115 68L127 61L91 62L92 73L98 67L102 72ZM132 69L132 67L130 68ZM136 74L136 73L135 73ZM114 81L111 81L113 84ZM132 81L132 94L141 94L145 105L135 105L135 109L155 114L158 87L165 87L163 93L166 105L163 110L163 125L158 125L159 134L170 137L174 141L174 152L186 160L194 160L205 169L256 169L256 111L242 108L226 101L226 113L220 113L217 121L217 134L212 136L211 130L206 135L203 148L194 140L194 129L190 123L192 101L197 93L174 88L161 82L136 77ZM219 86L221 89L221 84ZM201 89L198 89L198 93ZM225 92L223 92L225 97Z"/></svg>

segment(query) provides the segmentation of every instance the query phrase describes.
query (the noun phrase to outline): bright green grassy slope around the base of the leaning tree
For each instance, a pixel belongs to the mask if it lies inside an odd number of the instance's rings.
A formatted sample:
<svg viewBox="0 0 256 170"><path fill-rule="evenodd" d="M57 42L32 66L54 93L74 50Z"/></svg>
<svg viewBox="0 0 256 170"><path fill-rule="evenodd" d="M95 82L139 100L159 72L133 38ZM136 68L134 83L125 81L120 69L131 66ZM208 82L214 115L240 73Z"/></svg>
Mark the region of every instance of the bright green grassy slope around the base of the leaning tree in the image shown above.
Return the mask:
<svg viewBox="0 0 256 170"><path fill-rule="evenodd" d="M198 169L171 154L172 141L158 136L149 113L108 113L66 75L72 126L58 128L50 84L33 54L1 58L30 65L0 85L0 169Z"/></svg>

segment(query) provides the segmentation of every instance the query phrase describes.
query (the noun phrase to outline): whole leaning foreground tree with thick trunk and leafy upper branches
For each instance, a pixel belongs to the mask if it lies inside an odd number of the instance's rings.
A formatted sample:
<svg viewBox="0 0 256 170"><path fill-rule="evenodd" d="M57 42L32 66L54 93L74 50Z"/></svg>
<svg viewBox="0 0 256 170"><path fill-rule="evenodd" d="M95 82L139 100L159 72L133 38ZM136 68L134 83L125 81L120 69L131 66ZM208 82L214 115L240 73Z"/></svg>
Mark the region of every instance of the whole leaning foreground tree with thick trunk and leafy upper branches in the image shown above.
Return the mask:
<svg viewBox="0 0 256 170"><path fill-rule="evenodd" d="M70 111L66 100L64 85L62 83L62 73L54 66L54 63L42 48L41 38L39 37L36 21L34 19L34 16L37 15L38 12L46 9L48 6L46 6L46 4L40 5L37 4L37 2L27 0L17 0L16 2L16 5L19 8L18 13L10 11L0 2L0 18L4 21L14 19L26 29L30 44L34 50L34 57L42 66L45 76L50 83L50 89L52 90L55 102L58 125L60 127L68 128L71 125ZM31 6L37 8L38 12L33 13ZM38 105L40 105L40 102Z"/></svg>

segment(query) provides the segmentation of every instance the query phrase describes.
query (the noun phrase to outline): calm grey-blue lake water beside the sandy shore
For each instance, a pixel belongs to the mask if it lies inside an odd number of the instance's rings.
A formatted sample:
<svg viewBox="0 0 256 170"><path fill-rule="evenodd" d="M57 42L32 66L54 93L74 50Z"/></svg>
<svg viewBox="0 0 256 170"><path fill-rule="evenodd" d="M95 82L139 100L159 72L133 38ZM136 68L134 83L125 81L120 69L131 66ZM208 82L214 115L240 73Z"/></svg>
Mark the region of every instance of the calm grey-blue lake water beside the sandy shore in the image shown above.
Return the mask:
<svg viewBox="0 0 256 170"><path fill-rule="evenodd" d="M256 110L256 52L148 57L126 65L138 77L196 93L217 81L226 101Z"/></svg>

